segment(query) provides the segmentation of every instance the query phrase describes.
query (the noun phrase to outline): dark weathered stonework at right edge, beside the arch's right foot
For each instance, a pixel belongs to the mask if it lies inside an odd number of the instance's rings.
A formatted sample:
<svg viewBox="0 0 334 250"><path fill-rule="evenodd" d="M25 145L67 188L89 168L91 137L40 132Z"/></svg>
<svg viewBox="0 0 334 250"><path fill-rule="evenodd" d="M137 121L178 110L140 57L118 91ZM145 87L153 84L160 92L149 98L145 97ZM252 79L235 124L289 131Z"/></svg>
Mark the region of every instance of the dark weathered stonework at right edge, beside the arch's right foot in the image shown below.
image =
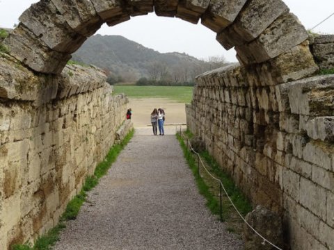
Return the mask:
<svg viewBox="0 0 334 250"><path fill-rule="evenodd" d="M320 69L334 69L334 35L315 35L310 49Z"/></svg>

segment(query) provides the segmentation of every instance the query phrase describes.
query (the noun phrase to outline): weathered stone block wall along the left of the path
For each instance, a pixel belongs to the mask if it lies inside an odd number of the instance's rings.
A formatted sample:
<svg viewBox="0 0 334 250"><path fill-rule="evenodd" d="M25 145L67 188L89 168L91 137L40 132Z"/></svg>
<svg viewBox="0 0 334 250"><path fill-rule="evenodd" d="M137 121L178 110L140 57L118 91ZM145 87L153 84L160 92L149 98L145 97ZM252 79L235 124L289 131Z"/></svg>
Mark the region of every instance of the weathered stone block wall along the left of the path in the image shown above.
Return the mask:
<svg viewBox="0 0 334 250"><path fill-rule="evenodd" d="M127 99L105 80L74 65L34 74L0 55L0 249L56 225L113 145Z"/></svg>

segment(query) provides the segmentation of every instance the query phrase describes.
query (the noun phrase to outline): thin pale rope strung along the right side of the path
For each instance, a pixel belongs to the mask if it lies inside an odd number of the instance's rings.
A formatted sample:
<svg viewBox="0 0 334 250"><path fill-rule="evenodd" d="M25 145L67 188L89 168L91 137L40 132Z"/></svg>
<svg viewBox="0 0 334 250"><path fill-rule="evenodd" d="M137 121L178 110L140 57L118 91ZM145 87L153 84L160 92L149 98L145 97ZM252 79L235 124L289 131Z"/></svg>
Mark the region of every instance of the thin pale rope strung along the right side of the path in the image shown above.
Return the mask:
<svg viewBox="0 0 334 250"><path fill-rule="evenodd" d="M333 13L334 15L334 13ZM184 133L182 132L181 130L181 126L180 126L180 135L182 135L183 138L187 138L186 135L184 135ZM188 138L187 138L188 139ZM223 191L225 192L226 194L226 197L228 197L228 200L230 201L230 203L232 204L234 210L237 211L239 217L241 217L241 219L244 221L244 223L254 232L256 233L262 240L263 240L263 243L267 242L268 244L270 244L272 247L275 247L276 249L278 250L283 250L283 249L280 249L280 247L277 247L275 244L271 243L269 240L267 240L266 238L264 238L259 232L257 232L255 230L255 228L253 228L253 226L251 226L247 221L246 219L241 215L241 213L239 212L239 210L237 209L237 207L234 205L232 199L230 198L230 196L228 195L228 192L225 190L225 187L223 185L223 183L221 182L220 179L216 178L215 176L213 176L209 170L207 170L207 168L205 167L205 164L203 163L202 161L202 158L200 157L200 154L198 152L196 152L193 147L191 146L191 143L189 142L189 140L187 140L187 149L188 149L188 144L190 146L190 149L191 151L193 151L193 153L195 153L197 156L198 156L198 159L200 159L200 163L202 165L202 167L205 169L205 171L207 172L207 174L209 174L210 177L212 177L214 180L218 181L219 185L221 186L221 188L223 188Z"/></svg>

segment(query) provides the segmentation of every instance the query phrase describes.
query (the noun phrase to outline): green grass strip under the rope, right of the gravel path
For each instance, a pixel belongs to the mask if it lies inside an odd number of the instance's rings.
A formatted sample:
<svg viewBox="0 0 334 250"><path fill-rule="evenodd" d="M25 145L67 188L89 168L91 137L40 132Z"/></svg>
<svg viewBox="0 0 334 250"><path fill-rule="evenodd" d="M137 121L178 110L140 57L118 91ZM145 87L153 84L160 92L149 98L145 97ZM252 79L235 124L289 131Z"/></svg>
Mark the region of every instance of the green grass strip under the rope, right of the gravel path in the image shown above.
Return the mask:
<svg viewBox="0 0 334 250"><path fill-rule="evenodd" d="M189 131L186 131L185 135L187 138L193 137L193 135ZM207 206L209 210L211 210L214 215L219 215L220 206L217 197L219 193L219 185L217 184L217 181L209 177L209 175L205 171L201 171L202 176L198 175L198 164L196 156L190 151L187 151L186 144L184 144L184 139L180 136L179 133L177 134L177 139L180 141L180 145L184 151L184 156L186 157L189 167L191 168L196 178L196 183L198 184L200 194L202 194L207 199ZM251 203L241 192L241 190L237 188L230 175L226 174L223 169L221 169L216 160L214 160L214 158L210 156L207 151L200 152L200 157L202 158L202 160L204 160L207 169L209 169L209 172L211 172L211 174L221 180L226 192L232 199L234 205L237 207L241 215L246 216L246 214L252 210ZM223 221L229 221L229 223L231 224L230 231L240 231L239 229L237 229L240 228L240 225L235 225L236 218L239 220L239 224L241 224L242 222L238 218L238 215L236 214L234 208L232 207L230 201L225 196L225 194L223 194L222 204Z"/></svg>

